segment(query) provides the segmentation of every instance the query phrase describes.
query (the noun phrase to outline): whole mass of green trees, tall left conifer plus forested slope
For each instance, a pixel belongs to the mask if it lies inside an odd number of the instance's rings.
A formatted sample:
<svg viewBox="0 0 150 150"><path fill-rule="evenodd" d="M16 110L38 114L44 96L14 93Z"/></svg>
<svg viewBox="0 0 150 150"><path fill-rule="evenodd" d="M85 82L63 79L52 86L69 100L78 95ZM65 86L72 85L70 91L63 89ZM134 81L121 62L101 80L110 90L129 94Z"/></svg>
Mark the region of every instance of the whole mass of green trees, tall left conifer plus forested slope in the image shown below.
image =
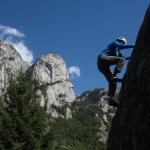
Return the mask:
<svg viewBox="0 0 150 150"><path fill-rule="evenodd" d="M7 93L0 100L1 150L105 149L96 136L102 118L97 105L76 101L62 108L53 106L64 116L70 107L73 118L52 118L40 106L36 92L35 84L23 73L10 80Z"/></svg>

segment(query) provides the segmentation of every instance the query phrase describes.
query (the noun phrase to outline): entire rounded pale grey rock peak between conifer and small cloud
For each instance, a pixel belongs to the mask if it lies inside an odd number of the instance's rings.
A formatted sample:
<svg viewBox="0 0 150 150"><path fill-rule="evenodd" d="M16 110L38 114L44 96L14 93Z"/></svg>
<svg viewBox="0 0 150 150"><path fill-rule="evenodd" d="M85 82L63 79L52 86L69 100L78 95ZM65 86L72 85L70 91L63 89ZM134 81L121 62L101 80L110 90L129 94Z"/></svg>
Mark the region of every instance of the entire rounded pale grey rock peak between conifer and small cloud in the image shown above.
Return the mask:
<svg viewBox="0 0 150 150"><path fill-rule="evenodd" d="M51 111L51 106L73 102L75 95L63 59L56 54L47 54L38 59L29 69L32 80L39 85L41 104ZM58 114L53 111L53 116Z"/></svg>

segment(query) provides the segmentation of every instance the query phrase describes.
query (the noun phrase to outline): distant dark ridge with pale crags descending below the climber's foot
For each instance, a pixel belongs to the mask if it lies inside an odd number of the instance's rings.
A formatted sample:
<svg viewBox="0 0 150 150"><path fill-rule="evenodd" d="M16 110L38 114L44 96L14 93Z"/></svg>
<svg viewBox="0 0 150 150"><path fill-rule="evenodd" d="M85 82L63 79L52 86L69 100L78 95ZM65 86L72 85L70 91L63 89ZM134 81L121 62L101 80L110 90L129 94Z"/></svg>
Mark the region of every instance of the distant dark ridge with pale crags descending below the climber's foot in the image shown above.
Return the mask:
<svg viewBox="0 0 150 150"><path fill-rule="evenodd" d="M97 132L97 137L99 138L99 141L105 144L108 138L108 130L110 127L111 119L116 112L116 109L110 107L108 101L105 99L106 94L106 89L94 89L86 91L77 97L77 100L79 101L86 101L89 103L89 105L99 106L101 115L95 114L95 117L99 118L101 122L99 132Z"/></svg>

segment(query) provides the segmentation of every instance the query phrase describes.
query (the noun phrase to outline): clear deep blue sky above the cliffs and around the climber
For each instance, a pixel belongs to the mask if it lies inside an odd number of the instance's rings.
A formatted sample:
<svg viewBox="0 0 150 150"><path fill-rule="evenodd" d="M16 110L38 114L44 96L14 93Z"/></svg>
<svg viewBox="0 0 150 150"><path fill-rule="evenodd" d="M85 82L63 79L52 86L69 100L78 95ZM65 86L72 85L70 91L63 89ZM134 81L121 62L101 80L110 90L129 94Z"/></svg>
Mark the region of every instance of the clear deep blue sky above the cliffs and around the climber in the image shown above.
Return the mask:
<svg viewBox="0 0 150 150"><path fill-rule="evenodd" d="M68 68L80 68L81 76L72 78L76 93L107 87L97 70L97 55L119 36L125 36L128 43L134 44L149 4L148 0L0 2L0 24L16 28L25 35L20 41L33 52L34 60L53 52L63 57ZM130 52L124 54L130 55Z"/></svg>

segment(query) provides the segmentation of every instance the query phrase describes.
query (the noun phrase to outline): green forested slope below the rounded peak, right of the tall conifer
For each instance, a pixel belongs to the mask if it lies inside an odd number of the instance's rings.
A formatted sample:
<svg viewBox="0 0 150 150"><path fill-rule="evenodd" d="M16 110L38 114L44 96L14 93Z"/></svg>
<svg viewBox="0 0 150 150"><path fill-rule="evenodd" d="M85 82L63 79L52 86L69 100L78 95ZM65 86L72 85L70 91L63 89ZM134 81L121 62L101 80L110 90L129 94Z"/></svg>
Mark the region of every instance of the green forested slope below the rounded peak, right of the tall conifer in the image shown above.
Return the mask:
<svg viewBox="0 0 150 150"><path fill-rule="evenodd" d="M95 113L100 112L98 107L74 102L72 111L74 113L71 119L55 119L52 140L48 144L52 150L104 150L105 145L96 136L101 126L100 118L95 117Z"/></svg>

